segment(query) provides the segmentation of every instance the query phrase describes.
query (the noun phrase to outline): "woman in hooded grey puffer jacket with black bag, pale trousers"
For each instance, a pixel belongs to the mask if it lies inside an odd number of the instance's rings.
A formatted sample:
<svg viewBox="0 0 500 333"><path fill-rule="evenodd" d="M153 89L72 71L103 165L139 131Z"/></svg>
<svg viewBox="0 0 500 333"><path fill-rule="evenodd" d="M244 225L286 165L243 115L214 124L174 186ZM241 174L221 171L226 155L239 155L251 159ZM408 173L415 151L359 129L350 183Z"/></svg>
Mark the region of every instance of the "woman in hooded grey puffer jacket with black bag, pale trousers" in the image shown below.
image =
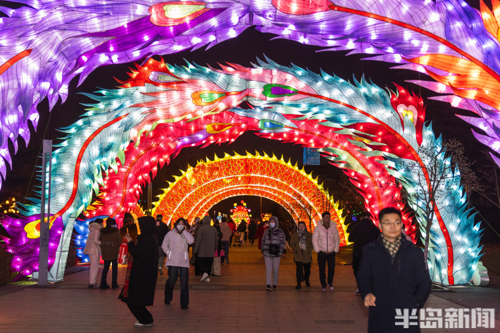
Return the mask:
<svg viewBox="0 0 500 333"><path fill-rule="evenodd" d="M262 246L260 250L265 261L265 282L266 290L277 289L279 262L283 255L285 246L283 231L278 228L278 219L275 216L269 218L269 228L264 231Z"/></svg>

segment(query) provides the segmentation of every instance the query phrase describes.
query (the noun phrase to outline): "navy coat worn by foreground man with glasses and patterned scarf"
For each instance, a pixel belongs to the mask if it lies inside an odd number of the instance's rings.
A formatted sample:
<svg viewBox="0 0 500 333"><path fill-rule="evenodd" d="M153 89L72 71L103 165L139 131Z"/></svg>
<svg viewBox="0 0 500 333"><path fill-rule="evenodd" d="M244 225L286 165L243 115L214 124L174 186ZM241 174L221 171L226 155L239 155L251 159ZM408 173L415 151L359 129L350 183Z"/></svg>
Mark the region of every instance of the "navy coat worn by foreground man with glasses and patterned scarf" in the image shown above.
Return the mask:
<svg viewBox="0 0 500 333"><path fill-rule="evenodd" d="M395 309L422 308L431 286L422 251L405 238L392 263L381 236L366 245L356 279L362 299L369 293L376 298L376 306L368 310L368 332L377 333L402 332L401 326L394 325ZM409 326L404 332L420 329Z"/></svg>

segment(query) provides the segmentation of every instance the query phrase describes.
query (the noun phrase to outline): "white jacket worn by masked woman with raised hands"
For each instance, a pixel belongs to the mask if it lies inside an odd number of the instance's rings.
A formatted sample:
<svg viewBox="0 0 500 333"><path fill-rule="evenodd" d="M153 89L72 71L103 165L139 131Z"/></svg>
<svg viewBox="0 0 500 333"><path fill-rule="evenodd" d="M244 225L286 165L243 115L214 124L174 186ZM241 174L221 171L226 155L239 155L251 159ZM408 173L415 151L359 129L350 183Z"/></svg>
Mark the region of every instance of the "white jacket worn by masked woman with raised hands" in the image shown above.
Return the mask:
<svg viewBox="0 0 500 333"><path fill-rule="evenodd" d="M161 249L166 255L165 267L178 266L189 268L188 247L193 242L194 238L186 229L180 234L175 228L169 231L161 244Z"/></svg>

